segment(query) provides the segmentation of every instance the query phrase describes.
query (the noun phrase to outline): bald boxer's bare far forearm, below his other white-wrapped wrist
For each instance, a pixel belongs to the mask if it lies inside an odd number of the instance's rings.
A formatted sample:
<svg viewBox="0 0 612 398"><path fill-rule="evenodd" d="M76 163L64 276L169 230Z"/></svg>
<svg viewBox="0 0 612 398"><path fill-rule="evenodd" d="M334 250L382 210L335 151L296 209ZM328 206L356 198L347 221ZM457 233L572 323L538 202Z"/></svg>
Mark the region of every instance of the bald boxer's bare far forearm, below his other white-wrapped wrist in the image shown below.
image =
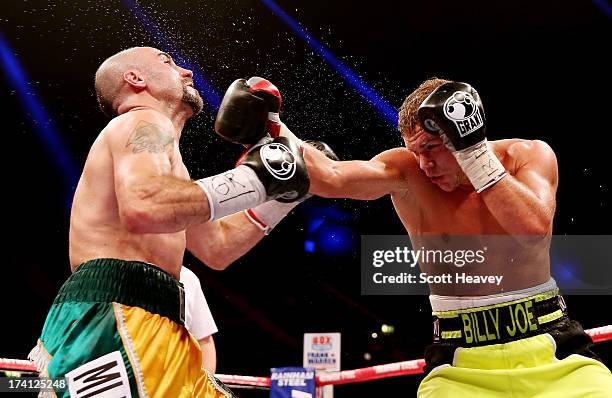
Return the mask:
<svg viewBox="0 0 612 398"><path fill-rule="evenodd" d="M264 232L244 212L187 229L187 250L216 270L223 270L251 250Z"/></svg>

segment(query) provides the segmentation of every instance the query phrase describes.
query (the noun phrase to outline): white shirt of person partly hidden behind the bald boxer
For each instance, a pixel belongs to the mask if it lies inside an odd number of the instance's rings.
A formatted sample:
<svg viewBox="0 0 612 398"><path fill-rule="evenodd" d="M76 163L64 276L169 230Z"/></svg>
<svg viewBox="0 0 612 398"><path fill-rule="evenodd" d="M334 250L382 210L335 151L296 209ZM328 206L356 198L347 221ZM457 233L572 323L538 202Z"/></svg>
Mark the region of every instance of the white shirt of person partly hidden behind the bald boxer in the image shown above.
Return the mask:
<svg viewBox="0 0 612 398"><path fill-rule="evenodd" d="M185 327L197 340L217 333L200 280L187 267L181 267L181 282L185 288Z"/></svg>

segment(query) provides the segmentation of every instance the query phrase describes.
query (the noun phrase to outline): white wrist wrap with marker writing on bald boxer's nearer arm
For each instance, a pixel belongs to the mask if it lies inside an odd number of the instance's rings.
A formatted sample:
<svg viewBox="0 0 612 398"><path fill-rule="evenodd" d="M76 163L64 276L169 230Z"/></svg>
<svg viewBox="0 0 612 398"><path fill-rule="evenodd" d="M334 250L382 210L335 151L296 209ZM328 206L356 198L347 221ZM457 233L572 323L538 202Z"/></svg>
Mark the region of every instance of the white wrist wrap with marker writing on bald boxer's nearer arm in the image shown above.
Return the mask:
<svg viewBox="0 0 612 398"><path fill-rule="evenodd" d="M210 221L257 206L266 200L266 189L255 171L245 165L194 182L208 198Z"/></svg>

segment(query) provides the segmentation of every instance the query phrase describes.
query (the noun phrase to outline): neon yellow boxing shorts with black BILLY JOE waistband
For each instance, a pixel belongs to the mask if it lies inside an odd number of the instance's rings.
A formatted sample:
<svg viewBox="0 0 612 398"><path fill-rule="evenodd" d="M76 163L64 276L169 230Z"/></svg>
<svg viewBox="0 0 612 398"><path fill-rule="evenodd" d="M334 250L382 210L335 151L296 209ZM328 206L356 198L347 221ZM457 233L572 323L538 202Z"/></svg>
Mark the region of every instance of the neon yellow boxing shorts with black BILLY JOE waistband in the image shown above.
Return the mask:
<svg viewBox="0 0 612 398"><path fill-rule="evenodd" d="M420 398L610 397L612 374L558 290L434 312Z"/></svg>

